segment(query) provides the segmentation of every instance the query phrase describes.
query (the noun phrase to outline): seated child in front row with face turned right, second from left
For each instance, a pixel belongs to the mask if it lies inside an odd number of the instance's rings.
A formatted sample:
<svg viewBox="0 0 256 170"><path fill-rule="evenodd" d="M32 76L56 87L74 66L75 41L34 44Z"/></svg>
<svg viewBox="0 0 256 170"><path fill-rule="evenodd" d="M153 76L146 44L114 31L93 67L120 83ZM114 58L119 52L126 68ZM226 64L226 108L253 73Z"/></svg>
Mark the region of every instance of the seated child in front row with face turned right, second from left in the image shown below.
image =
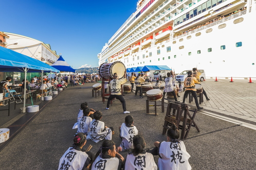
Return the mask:
<svg viewBox="0 0 256 170"><path fill-rule="evenodd" d="M91 170L120 170L124 158L116 150L116 145L112 140L104 140L100 150L95 156Z"/></svg>

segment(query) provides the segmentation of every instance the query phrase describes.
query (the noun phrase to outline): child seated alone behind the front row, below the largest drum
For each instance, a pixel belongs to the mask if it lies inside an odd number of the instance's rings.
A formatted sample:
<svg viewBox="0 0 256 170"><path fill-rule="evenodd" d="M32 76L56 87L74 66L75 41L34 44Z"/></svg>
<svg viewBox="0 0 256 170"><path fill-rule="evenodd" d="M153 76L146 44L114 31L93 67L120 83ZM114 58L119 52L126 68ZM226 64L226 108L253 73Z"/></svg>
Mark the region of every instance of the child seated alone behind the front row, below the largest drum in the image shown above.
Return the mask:
<svg viewBox="0 0 256 170"><path fill-rule="evenodd" d="M133 137L138 135L138 130L133 123L133 117L128 115L125 117L124 123L120 126L120 137L122 138L120 147L122 150L129 150L133 148Z"/></svg>

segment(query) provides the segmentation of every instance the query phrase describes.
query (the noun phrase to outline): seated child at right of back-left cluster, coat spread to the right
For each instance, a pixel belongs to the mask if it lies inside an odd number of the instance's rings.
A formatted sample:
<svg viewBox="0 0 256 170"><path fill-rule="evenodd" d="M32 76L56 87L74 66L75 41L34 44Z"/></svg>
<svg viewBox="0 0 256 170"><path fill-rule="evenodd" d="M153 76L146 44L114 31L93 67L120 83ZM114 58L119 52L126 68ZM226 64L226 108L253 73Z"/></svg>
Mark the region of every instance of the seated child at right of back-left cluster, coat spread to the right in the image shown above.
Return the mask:
<svg viewBox="0 0 256 170"><path fill-rule="evenodd" d="M100 121L101 118L102 118L101 111L94 112L94 120L91 121L89 125L90 131L88 133L87 138L92 139L96 143L98 143L103 139L111 140L112 132L114 133L112 127L107 128L104 122Z"/></svg>

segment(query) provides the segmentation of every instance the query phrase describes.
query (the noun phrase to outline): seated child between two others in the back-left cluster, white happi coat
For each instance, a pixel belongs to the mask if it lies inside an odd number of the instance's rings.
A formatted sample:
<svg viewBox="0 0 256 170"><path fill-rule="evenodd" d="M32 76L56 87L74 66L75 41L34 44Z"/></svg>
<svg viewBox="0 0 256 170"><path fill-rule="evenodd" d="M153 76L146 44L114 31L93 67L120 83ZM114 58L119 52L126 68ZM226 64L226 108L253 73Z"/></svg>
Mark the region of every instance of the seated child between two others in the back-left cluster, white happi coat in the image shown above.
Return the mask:
<svg viewBox="0 0 256 170"><path fill-rule="evenodd" d="M84 133L85 135L87 135L87 133L89 132L89 125L90 122L93 120L92 118L89 117L90 115L90 109L89 108L85 108L83 110L83 117L78 121L78 128L77 128L77 133Z"/></svg>

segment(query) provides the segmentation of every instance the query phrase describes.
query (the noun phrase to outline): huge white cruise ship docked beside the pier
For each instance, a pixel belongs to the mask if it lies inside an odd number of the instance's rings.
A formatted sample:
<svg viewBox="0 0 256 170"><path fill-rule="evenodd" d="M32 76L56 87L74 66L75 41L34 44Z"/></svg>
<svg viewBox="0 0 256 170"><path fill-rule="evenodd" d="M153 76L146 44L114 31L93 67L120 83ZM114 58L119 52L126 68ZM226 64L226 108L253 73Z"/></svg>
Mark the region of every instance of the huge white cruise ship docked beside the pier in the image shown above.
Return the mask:
<svg viewBox="0 0 256 170"><path fill-rule="evenodd" d="M256 77L256 1L140 0L98 54L99 65L167 65L175 73Z"/></svg>

